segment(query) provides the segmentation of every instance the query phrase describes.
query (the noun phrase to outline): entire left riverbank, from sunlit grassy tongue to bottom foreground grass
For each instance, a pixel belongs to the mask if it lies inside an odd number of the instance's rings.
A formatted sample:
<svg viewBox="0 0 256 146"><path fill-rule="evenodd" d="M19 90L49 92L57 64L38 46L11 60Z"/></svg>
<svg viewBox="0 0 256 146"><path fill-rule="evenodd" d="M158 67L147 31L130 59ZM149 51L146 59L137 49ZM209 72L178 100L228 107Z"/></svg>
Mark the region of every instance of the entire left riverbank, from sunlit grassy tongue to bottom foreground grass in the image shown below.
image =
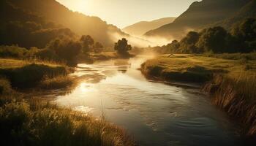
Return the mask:
<svg viewBox="0 0 256 146"><path fill-rule="evenodd" d="M127 133L104 118L57 107L20 90L50 91L74 83L64 64L0 58L2 145L135 145Z"/></svg>

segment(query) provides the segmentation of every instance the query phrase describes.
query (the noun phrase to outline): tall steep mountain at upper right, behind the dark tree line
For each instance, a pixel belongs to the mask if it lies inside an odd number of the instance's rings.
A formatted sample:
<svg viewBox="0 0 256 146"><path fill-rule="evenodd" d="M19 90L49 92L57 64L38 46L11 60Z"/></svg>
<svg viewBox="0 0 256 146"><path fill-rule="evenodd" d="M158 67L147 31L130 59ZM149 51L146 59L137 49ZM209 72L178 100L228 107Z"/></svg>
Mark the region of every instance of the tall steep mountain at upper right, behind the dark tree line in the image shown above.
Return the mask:
<svg viewBox="0 0 256 146"><path fill-rule="evenodd" d="M252 0L203 0L192 3L173 23L146 32L146 36L181 39L187 31L232 17Z"/></svg>

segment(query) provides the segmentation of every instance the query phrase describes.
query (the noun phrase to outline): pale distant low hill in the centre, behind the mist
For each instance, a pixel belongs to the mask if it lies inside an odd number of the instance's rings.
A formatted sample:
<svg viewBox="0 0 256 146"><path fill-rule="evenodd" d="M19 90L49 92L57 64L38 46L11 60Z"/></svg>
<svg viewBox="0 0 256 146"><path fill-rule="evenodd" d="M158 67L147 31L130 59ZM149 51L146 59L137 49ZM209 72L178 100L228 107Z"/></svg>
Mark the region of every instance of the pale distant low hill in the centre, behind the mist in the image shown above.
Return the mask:
<svg viewBox="0 0 256 146"><path fill-rule="evenodd" d="M165 24L172 23L176 18L162 18L158 20L152 21L140 21L138 23L132 24L131 26L127 26L122 29L122 31L127 34L131 34L133 36L142 36L147 31L152 29L159 28L160 26L164 26Z"/></svg>

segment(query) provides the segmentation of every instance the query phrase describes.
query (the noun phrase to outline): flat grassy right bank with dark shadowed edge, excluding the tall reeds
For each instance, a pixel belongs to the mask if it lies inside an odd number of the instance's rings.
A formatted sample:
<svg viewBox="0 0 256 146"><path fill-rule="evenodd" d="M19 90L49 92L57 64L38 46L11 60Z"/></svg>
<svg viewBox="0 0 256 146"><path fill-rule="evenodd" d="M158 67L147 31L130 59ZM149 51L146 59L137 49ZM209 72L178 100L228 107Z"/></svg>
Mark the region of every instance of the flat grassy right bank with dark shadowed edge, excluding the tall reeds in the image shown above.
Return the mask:
<svg viewBox="0 0 256 146"><path fill-rule="evenodd" d="M256 61L225 59L203 55L162 55L146 61L141 70L148 77L161 77L170 81L206 82L213 74L238 76L241 72L254 74Z"/></svg>

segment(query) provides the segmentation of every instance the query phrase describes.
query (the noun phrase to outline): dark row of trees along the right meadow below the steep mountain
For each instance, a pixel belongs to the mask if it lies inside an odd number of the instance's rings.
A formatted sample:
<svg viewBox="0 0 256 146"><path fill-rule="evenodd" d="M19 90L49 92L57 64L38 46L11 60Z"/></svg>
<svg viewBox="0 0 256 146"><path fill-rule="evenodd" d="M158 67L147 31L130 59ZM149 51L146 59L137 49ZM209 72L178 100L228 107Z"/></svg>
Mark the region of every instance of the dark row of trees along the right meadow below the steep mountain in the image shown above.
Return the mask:
<svg viewBox="0 0 256 146"><path fill-rule="evenodd" d="M256 19L242 20L231 31L220 26L189 31L179 42L154 49L162 53L250 53L256 50Z"/></svg>

